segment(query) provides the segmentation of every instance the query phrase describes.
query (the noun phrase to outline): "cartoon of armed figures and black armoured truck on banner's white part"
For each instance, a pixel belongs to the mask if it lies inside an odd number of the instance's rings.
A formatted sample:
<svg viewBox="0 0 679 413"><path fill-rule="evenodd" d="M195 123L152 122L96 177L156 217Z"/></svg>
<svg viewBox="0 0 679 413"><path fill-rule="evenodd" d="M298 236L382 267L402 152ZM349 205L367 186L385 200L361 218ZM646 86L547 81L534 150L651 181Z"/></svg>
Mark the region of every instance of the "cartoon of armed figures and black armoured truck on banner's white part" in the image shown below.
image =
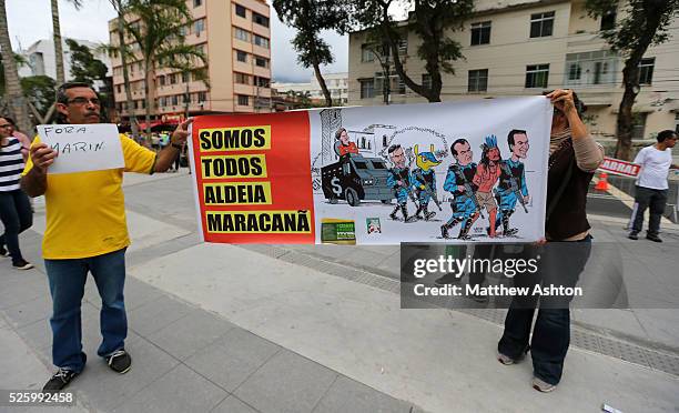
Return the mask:
<svg viewBox="0 0 679 413"><path fill-rule="evenodd" d="M381 220L369 238L356 231L357 243L535 239L540 230L525 223L544 213L530 194L544 191L547 140L533 150L531 137L548 137L548 122L521 113L484 127L450 104L429 108L417 117L395 113L403 107L311 111L316 216ZM317 241L333 243L323 233Z"/></svg>

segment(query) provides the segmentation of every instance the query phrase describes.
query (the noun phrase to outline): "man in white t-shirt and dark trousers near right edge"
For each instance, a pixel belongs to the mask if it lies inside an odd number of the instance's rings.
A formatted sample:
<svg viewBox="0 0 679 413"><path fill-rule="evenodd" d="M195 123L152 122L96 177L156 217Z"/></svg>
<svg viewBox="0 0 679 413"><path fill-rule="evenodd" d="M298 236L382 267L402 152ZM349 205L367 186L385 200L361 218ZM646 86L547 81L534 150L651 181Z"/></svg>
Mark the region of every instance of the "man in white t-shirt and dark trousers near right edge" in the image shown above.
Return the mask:
<svg viewBox="0 0 679 413"><path fill-rule="evenodd" d="M638 240L641 226L643 226L643 212L649 208L650 218L648 220L648 231L646 239L655 242L662 242L660 233L660 218L665 212L667 202L667 174L671 169L679 169L672 164L672 148L677 142L677 132L665 130L658 133L658 143L646 147L637 153L635 163L641 165L641 171L637 177L635 192L635 208L630 219L630 240Z"/></svg>

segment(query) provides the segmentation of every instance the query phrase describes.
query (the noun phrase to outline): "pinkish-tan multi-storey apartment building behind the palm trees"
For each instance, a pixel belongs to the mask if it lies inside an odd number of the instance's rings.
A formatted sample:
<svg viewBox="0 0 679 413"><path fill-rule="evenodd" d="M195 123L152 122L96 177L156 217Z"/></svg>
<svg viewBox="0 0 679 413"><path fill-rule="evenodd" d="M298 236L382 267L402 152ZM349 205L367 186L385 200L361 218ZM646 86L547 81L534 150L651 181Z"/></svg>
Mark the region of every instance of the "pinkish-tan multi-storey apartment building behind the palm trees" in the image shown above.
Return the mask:
<svg viewBox="0 0 679 413"><path fill-rule="evenodd" d="M207 57L204 82L195 73L160 68L149 75L150 93L156 122L176 121L186 105L189 114L243 113L271 111L271 29L265 0L188 0L193 21L184 28L185 42ZM130 18L134 22L134 18ZM112 44L118 44L115 19L109 22ZM131 39L126 41L132 42ZM132 50L139 47L131 44ZM112 59L113 89L118 112L129 119L120 56ZM128 62L131 110L145 113L142 62ZM188 97L188 101L186 101Z"/></svg>

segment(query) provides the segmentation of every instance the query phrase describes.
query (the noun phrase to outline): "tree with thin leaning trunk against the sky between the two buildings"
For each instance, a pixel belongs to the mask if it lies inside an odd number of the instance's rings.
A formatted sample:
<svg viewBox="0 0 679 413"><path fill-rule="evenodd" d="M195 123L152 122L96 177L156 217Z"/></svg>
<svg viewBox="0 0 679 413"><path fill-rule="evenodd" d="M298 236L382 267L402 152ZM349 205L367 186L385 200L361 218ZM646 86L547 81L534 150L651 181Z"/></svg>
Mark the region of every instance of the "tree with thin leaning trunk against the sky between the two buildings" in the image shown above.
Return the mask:
<svg viewBox="0 0 679 413"><path fill-rule="evenodd" d="M347 6L348 1L341 0L273 0L273 7L281 21L297 31L293 39L297 61L304 68L314 68L327 107L333 105L333 98L321 73L321 66L331 64L335 59L321 32L335 30L344 33L348 30Z"/></svg>

